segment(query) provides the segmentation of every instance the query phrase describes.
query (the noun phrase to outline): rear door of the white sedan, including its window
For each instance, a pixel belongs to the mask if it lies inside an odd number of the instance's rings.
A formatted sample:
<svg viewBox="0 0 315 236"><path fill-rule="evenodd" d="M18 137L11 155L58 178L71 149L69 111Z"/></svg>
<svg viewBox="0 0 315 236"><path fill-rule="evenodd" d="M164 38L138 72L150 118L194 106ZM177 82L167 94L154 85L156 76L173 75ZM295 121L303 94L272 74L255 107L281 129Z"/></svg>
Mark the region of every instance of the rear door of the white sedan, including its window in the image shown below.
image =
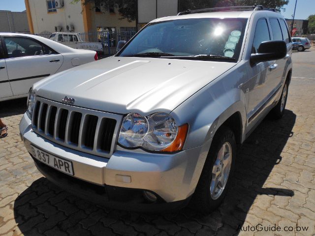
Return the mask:
<svg viewBox="0 0 315 236"><path fill-rule="evenodd" d="M32 84L55 74L63 56L27 36L3 36L6 68L14 96L28 93Z"/></svg>

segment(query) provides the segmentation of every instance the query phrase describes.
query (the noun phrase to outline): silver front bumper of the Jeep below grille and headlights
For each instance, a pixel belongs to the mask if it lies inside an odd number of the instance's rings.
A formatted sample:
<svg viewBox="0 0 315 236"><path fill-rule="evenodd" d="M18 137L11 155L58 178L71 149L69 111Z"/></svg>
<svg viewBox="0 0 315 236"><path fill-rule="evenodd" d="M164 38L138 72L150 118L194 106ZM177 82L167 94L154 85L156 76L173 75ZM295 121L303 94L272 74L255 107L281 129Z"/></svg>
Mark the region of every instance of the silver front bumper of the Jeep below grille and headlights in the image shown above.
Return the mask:
<svg viewBox="0 0 315 236"><path fill-rule="evenodd" d="M166 203L183 201L192 195L209 150L196 147L173 154L159 154L117 149L110 158L105 158L66 148L41 137L32 131L27 115L21 119L20 133L29 152L33 144L71 161L75 178L99 186L149 190Z"/></svg>

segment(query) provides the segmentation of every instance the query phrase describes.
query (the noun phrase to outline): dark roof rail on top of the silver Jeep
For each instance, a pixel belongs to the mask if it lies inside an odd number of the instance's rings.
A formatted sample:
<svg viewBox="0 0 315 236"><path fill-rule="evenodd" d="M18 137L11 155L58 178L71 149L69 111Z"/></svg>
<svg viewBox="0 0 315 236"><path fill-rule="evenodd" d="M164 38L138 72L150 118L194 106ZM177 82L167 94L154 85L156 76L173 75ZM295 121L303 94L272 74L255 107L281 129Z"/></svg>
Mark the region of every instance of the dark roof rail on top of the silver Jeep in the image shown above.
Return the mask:
<svg viewBox="0 0 315 236"><path fill-rule="evenodd" d="M186 15L186 14L194 14L194 13L203 13L203 12L214 12L214 11L259 11L259 10L267 10L267 11L276 11L274 8L263 7L262 5L254 4L252 6L222 6L222 7L213 7L213 8L204 8L204 9L196 9L196 10L186 10L179 12L177 15Z"/></svg>

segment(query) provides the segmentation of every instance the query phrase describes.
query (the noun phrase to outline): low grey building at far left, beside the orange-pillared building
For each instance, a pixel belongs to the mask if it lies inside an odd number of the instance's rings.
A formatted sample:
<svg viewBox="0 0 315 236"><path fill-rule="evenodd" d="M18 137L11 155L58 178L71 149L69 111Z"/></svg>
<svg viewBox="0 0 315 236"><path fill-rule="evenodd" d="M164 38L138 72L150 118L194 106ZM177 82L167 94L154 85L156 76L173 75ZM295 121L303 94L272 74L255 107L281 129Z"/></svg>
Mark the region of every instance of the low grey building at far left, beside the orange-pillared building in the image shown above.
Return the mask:
<svg viewBox="0 0 315 236"><path fill-rule="evenodd" d="M26 11L0 11L0 32L29 32Z"/></svg>

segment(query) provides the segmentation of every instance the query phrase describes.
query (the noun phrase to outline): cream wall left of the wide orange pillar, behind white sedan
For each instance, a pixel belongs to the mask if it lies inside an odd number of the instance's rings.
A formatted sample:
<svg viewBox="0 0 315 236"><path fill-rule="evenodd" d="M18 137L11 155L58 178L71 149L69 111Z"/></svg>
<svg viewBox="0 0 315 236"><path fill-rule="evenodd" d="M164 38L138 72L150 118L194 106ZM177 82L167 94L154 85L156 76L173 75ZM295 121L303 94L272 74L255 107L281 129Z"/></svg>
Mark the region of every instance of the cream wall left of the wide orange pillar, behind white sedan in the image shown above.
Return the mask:
<svg viewBox="0 0 315 236"><path fill-rule="evenodd" d="M76 32L84 32L80 2L71 4L71 0L64 0L64 7L57 8L57 12L47 12L46 0L29 0L29 4L34 33L55 32L55 26L61 26L62 31L66 31L67 25L73 25Z"/></svg>

